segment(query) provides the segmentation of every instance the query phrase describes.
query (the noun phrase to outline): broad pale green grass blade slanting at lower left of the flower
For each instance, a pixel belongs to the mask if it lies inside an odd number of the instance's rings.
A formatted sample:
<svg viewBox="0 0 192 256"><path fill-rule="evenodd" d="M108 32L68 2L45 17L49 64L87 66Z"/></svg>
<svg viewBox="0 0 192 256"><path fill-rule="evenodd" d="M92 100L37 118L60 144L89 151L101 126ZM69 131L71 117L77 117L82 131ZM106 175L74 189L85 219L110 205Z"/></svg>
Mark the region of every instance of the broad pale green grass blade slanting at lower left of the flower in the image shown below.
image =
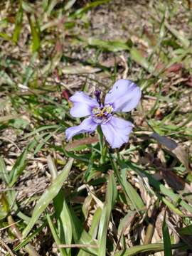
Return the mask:
<svg viewBox="0 0 192 256"><path fill-rule="evenodd" d="M49 205L49 203L57 196L58 192L60 191L60 188L63 185L63 182L66 178L68 178L68 174L70 172L71 166L73 164L73 159L70 159L68 161L68 164L65 165L63 171L58 175L57 178L53 180L51 185L46 189L46 191L43 193L41 198L36 203L36 207L33 210L33 214L31 217L30 222L26 226L26 228L23 230L23 238L26 238L28 233L33 228L33 225L36 224L36 221L40 217L41 213L46 209L46 207Z"/></svg>

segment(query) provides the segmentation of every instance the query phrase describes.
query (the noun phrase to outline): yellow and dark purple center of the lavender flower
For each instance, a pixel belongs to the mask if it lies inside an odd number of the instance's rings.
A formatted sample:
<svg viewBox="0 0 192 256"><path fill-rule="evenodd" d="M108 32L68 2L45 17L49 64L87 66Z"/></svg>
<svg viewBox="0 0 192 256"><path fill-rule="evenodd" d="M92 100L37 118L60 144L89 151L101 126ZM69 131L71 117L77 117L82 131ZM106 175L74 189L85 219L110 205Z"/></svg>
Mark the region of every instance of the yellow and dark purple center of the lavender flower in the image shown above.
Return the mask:
<svg viewBox="0 0 192 256"><path fill-rule="evenodd" d="M92 117L94 122L97 124L105 124L110 121L112 117L113 107L112 105L105 105L104 107L93 107L92 108Z"/></svg>

